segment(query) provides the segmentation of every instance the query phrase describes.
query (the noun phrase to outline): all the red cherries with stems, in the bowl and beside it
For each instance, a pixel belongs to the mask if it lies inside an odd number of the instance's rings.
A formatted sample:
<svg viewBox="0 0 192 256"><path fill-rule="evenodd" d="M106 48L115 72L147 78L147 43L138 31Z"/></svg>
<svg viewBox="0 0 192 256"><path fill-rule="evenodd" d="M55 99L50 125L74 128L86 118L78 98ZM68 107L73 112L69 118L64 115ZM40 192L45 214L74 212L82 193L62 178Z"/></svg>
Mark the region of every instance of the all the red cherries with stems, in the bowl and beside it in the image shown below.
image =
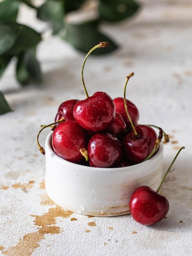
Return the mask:
<svg viewBox="0 0 192 256"><path fill-rule="evenodd" d="M81 77L87 98L63 102L58 108L55 122L43 126L40 132L52 126L54 152L69 162L100 168L131 166L150 159L158 150L163 135L165 142L169 138L161 128L157 137L152 125L137 124L138 109L125 97L127 82L134 75L133 72L126 77L123 98L113 100L105 92L95 92L89 97L83 79L85 62L96 48L107 46L105 42L96 45L83 62ZM40 152L45 155L38 138L37 143ZM143 225L151 225L166 216L168 200L158 193L163 180L157 191L141 186L133 193L129 208L134 220Z"/></svg>

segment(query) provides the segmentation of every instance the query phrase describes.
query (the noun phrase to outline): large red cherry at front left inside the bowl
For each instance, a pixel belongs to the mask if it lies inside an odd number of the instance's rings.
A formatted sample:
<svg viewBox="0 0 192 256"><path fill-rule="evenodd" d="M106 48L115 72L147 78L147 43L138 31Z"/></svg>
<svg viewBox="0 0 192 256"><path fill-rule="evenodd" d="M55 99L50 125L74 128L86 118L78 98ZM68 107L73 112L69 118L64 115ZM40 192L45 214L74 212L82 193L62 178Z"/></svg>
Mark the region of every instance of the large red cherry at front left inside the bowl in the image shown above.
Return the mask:
<svg viewBox="0 0 192 256"><path fill-rule="evenodd" d="M80 163L84 160L80 148L85 148L89 139L89 133L76 121L62 122L53 132L52 146L55 153L63 159Z"/></svg>

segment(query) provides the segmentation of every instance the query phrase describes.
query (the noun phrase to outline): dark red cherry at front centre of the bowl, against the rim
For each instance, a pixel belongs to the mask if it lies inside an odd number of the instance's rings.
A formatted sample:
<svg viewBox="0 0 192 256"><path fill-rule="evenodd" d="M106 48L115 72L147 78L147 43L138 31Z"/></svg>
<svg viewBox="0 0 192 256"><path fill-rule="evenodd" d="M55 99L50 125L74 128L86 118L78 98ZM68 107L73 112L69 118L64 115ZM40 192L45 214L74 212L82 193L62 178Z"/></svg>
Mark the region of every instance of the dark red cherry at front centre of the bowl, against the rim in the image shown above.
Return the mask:
<svg viewBox="0 0 192 256"><path fill-rule="evenodd" d="M89 139L87 151L92 167L113 167L122 157L121 142L108 133L94 134Z"/></svg>

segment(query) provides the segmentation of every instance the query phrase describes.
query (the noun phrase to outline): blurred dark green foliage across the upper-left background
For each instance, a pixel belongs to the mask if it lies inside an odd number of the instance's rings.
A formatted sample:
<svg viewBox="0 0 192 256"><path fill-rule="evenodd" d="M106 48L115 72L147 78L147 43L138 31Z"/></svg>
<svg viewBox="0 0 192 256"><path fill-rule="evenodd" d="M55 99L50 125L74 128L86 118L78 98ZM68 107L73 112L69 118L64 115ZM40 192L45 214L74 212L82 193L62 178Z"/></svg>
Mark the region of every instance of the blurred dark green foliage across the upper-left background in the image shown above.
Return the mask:
<svg viewBox="0 0 192 256"><path fill-rule="evenodd" d="M42 35L34 29L16 22L20 4L36 10L38 19L47 22L52 34L59 34L81 52L88 52L101 41L110 43L105 54L117 48L116 43L100 32L102 22L119 22L134 15L138 4L133 0L98 0L98 18L79 24L69 24L66 13L76 11L89 0L46 0L41 6L34 6L31 0L3 0L0 2L0 77L13 57L16 58L16 78L21 85L31 80L42 81L40 65L36 59L36 47ZM0 114L10 111L0 92Z"/></svg>

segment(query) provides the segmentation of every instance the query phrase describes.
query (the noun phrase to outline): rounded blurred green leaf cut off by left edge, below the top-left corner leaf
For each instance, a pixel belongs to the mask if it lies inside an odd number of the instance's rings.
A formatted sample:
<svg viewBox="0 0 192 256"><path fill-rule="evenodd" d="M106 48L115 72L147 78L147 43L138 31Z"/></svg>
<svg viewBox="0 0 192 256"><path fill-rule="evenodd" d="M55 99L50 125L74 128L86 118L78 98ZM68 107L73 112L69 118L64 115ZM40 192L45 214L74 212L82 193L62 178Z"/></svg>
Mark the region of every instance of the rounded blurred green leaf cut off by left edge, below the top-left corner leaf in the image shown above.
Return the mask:
<svg viewBox="0 0 192 256"><path fill-rule="evenodd" d="M18 32L5 25L0 25L0 55L7 52L16 42Z"/></svg>

